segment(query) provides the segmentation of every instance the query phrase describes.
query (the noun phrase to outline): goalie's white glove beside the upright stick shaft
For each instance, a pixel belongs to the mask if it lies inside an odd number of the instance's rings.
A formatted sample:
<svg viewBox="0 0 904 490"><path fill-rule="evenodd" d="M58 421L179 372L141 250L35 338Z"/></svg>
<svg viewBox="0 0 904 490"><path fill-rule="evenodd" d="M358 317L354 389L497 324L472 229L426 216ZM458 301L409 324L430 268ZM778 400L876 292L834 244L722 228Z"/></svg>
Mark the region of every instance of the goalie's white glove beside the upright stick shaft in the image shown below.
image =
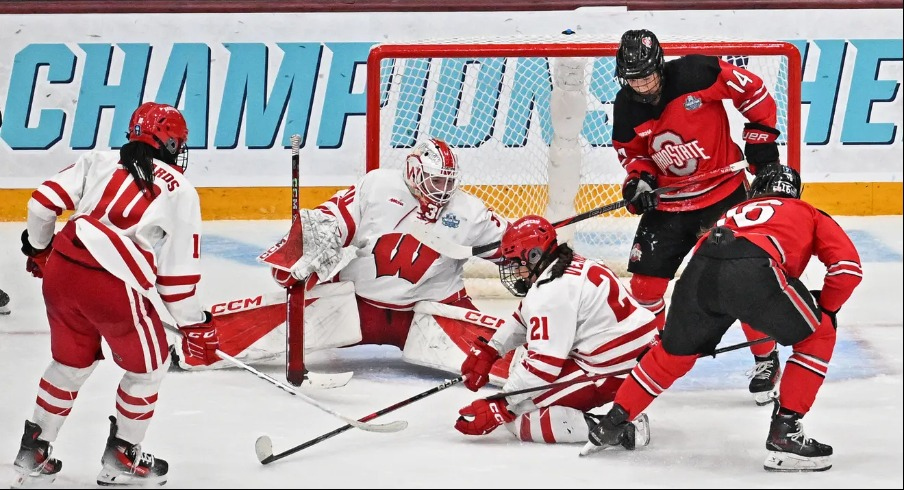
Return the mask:
<svg viewBox="0 0 904 490"><path fill-rule="evenodd" d="M315 272L321 280L329 279L342 259L339 220L316 209L302 209L301 223L304 254L292 265L292 276L304 280Z"/></svg>

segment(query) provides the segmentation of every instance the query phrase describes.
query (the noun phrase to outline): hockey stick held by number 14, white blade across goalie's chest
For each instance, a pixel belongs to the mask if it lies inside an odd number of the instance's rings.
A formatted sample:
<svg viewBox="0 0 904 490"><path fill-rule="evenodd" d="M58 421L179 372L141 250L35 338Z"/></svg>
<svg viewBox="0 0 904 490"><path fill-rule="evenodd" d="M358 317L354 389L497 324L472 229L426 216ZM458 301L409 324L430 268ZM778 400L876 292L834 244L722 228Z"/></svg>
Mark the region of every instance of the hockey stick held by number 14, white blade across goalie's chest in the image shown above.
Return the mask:
<svg viewBox="0 0 904 490"><path fill-rule="evenodd" d="M738 172L744 170L750 166L747 161L741 160L740 162L735 162L727 167L717 168L715 170L711 170L709 172L704 172L702 174L694 175L680 182L676 182L672 185L666 187L658 187L653 192L656 195L665 194L668 192L676 191L687 187L691 184L696 184L698 182L702 182L713 177L718 177L723 174ZM628 205L628 201L622 199L620 201L616 201L605 206L591 209L590 211L585 211L578 215L572 216L570 218L565 218L561 221L556 221L552 224L554 228L561 228L563 226L568 226L570 224L577 223L579 221L584 221L588 218L593 218L595 216L599 216L601 214L609 213L612 211L616 211ZM475 247L469 247L467 245L461 245L458 243L452 243L448 238L437 235L433 232L431 228L428 228L428 225L423 222L416 222L411 225L409 229L409 233L414 236L419 242L424 245L432 248L433 250L445 255L446 257L450 257L453 259L468 259L470 257L476 255L482 255L487 252L496 250L499 248L500 242L496 241L493 243L487 243L486 245L478 245Z"/></svg>

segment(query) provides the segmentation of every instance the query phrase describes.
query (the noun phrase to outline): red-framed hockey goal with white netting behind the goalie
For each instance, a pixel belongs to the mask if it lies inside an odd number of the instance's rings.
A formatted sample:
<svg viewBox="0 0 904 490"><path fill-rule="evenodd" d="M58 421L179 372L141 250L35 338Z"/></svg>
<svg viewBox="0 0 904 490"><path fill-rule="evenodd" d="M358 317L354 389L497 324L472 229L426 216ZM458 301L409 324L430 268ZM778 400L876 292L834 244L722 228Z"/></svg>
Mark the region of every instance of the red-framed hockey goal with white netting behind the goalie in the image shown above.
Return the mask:
<svg viewBox="0 0 904 490"><path fill-rule="evenodd" d="M763 78L778 106L782 161L799 168L796 47L667 39L662 46L667 60L720 56ZM615 202L625 175L611 142L617 49L617 38L573 35L377 45L367 63L366 170L402 168L420 139L437 137L458 153L462 188L506 218L555 221ZM728 113L739 140L744 119ZM636 225L620 210L559 233L578 253L624 272ZM493 277L495 267L479 262L466 274Z"/></svg>

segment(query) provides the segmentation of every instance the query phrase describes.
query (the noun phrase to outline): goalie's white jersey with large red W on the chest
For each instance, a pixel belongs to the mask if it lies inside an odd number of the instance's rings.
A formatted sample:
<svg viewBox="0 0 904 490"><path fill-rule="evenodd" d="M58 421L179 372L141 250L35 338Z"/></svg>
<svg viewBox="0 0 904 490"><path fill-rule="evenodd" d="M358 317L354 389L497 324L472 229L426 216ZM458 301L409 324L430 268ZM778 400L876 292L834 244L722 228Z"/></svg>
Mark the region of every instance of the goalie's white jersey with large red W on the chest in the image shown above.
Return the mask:
<svg viewBox="0 0 904 490"><path fill-rule="evenodd" d="M451 302L466 294L466 260L442 256L406 233L421 219L420 206L400 170L372 170L317 209L338 218L343 246L357 248L340 280L353 281L356 293L372 304L409 310L418 301ZM452 242L475 246L499 241L508 222L459 190L430 226ZM483 257L497 259L498 250Z"/></svg>

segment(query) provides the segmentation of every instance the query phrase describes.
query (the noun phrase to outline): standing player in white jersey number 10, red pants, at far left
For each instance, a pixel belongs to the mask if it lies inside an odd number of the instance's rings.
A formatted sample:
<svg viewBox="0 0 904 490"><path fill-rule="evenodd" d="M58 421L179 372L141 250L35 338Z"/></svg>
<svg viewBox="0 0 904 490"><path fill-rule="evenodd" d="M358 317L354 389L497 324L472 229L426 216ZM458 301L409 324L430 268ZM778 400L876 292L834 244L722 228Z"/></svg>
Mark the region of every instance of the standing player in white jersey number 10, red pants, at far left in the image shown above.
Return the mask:
<svg viewBox="0 0 904 490"><path fill-rule="evenodd" d="M182 175L187 138L178 110L142 104L119 152L82 155L41 184L28 202L22 252L26 270L43 278L53 360L39 383L34 416L25 422L14 486L52 481L60 471L50 443L103 358L101 338L125 374L97 483L166 482L167 462L139 445L169 365L150 290L156 288L188 339L184 355L209 363L217 359L218 347L212 317L195 296L201 210L197 191ZM64 210L72 216L54 234Z"/></svg>

